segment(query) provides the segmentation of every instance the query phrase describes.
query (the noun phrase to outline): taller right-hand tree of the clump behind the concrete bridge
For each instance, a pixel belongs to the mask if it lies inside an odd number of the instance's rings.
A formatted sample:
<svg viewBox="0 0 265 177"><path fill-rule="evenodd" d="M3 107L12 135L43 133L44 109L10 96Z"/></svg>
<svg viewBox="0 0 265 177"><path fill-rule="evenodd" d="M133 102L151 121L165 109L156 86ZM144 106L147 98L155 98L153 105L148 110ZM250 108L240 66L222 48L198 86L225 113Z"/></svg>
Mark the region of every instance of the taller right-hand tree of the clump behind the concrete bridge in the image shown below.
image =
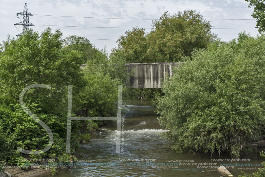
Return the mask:
<svg viewBox="0 0 265 177"><path fill-rule="evenodd" d="M153 21L153 29L147 35L150 44L148 56L157 62L181 61L196 48L206 48L216 39L211 33L210 21L194 10L170 15L165 12L160 20Z"/></svg>

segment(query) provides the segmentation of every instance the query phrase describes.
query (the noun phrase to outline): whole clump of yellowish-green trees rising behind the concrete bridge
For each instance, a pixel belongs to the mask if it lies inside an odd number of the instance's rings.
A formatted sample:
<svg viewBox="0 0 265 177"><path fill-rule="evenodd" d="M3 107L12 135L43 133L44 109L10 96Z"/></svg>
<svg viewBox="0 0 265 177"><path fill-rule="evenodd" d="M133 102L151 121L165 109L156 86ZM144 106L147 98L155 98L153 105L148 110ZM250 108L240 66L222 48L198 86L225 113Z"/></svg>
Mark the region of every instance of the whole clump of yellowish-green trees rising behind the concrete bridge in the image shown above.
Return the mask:
<svg viewBox="0 0 265 177"><path fill-rule="evenodd" d="M195 11L170 15L165 12L153 21L150 33L144 28L133 28L118 39L117 51L124 52L127 63L176 62L190 56L196 48L206 48L216 39L211 24Z"/></svg>

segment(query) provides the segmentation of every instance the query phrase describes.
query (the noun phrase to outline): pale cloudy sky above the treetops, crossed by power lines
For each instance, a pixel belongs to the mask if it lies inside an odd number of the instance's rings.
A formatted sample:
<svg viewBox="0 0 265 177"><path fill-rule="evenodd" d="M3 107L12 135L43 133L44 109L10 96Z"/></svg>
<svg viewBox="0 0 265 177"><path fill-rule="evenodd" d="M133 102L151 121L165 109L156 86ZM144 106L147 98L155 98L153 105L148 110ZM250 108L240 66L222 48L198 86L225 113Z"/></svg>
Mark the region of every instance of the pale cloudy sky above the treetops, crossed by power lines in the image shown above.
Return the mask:
<svg viewBox="0 0 265 177"><path fill-rule="evenodd" d="M255 20L216 20L216 19L253 19L251 13L253 8L247 8L248 3L244 0L131 0L131 1L102 1L102 0L0 0L0 39L5 40L7 35L16 37L18 30L14 23L20 22L22 17L17 18L16 13L22 12L27 3L29 12L35 14L29 16L35 31L43 31L47 26L42 25L67 25L67 26L89 26L89 27L122 27L122 28L79 28L51 26L52 30L60 29L64 37L69 35L84 36L90 39L97 48L104 48L111 52L117 47L116 40L131 27L151 28L152 20L137 19L159 19L168 11L170 14L184 10L196 10L204 19L212 20L214 28L246 28L246 29L212 29L223 41L235 38L239 32L245 30L251 35L258 34L255 29ZM55 6L60 5L60 6ZM236 7L236 8L235 8ZM37 15L38 14L38 15ZM54 17L40 15L59 15L75 17ZM93 19L77 17L103 17L103 18L134 18L134 19ZM128 29L126 29L128 28ZM150 29L146 30L147 32ZM112 39L112 40L97 40Z"/></svg>

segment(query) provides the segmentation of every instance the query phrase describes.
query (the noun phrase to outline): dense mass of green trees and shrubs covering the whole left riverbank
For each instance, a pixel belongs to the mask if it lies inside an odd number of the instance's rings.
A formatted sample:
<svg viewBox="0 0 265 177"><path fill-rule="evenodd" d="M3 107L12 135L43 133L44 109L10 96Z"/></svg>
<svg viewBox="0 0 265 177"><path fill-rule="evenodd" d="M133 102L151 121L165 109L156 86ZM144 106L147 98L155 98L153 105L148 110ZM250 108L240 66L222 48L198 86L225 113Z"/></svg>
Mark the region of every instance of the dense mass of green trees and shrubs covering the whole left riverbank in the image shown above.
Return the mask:
<svg viewBox="0 0 265 177"><path fill-rule="evenodd" d="M28 161L23 160L17 147L34 152L43 149L49 142L45 129L24 112L19 104L19 94L29 85L51 86L50 90L30 89L23 101L51 129L54 139L47 152L30 155L33 158L73 159L73 156L65 154L68 85L73 85L73 114L116 116L118 85L126 78L126 74L120 74L124 71L118 56L108 59L103 50L93 48L86 38L70 36L63 40L62 32L56 30L52 33L50 28L41 34L29 30L17 39L8 38L1 49L1 161L25 165ZM88 54L87 51L92 52ZM92 58L89 58L92 54ZM84 63L103 65L81 69ZM117 74L119 77L116 78ZM72 121L71 154L75 153L79 142L90 139L89 134L80 135L80 126L86 126L89 132L98 124L102 124L102 121Z"/></svg>

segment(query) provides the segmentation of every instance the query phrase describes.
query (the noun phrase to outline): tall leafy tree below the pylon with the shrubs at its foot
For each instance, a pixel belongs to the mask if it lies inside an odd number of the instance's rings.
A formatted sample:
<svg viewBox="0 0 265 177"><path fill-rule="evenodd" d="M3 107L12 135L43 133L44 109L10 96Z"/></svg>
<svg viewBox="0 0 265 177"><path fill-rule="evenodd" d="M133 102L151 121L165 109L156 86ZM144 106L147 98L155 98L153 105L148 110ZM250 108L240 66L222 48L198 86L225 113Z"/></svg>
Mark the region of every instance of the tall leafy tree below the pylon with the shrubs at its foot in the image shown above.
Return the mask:
<svg viewBox="0 0 265 177"><path fill-rule="evenodd" d="M49 142L47 132L18 104L23 88L33 84L51 85L51 90L29 90L24 103L53 132L54 142L43 156L65 151L67 123L67 85L82 86L81 54L63 48L62 33L47 28L39 34L29 30L16 39L8 39L0 55L0 151L3 158L17 156L16 147L43 149ZM11 104L10 104L11 103ZM72 132L78 132L73 122ZM77 147L71 138L71 152ZM1 156L2 157L2 156Z"/></svg>

